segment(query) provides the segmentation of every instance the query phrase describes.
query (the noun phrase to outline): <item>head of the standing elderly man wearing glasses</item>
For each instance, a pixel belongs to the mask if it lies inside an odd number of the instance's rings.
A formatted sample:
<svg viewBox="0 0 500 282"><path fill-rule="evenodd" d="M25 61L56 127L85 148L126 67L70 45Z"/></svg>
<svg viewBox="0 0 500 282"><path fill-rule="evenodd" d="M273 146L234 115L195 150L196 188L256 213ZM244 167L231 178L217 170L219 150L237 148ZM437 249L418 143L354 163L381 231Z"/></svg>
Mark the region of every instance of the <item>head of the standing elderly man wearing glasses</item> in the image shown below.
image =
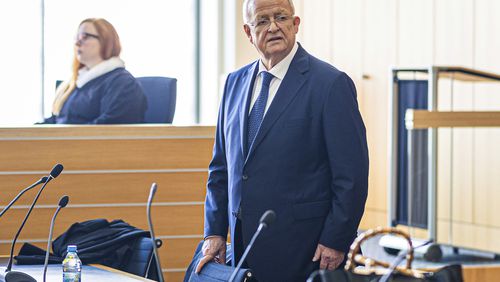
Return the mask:
<svg viewBox="0 0 500 282"><path fill-rule="evenodd" d="M288 0L250 1L248 11L245 33L262 58L270 63L267 67L273 67L292 50L300 18L293 15Z"/></svg>

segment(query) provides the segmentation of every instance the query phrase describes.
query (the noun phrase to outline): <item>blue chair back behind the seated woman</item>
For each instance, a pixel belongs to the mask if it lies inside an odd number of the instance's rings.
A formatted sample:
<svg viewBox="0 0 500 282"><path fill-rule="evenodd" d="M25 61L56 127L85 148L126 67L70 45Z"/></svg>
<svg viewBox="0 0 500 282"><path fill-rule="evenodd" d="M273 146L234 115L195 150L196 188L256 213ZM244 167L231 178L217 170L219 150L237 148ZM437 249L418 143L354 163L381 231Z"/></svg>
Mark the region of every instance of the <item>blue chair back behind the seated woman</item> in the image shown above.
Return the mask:
<svg viewBox="0 0 500 282"><path fill-rule="evenodd" d="M138 77L148 100L144 123L172 123L177 97L177 79L160 76Z"/></svg>

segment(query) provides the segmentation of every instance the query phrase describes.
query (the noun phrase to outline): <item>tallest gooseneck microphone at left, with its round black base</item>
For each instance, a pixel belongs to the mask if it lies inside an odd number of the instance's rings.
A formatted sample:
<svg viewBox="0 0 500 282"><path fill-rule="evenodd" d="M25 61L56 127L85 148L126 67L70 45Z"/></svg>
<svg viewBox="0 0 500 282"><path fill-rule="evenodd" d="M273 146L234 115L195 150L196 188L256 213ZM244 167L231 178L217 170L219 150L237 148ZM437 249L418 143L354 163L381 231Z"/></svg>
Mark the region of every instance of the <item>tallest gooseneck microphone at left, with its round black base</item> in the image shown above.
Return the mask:
<svg viewBox="0 0 500 282"><path fill-rule="evenodd" d="M9 263L7 264L7 268L5 269L5 278L3 278L3 274L0 274L0 281L2 279L5 279L6 282L14 282L14 281L34 281L36 280L31 277L30 275L20 272L20 271L11 271L12 269L12 261L13 261L13 256L14 256L14 246L16 245L17 238L19 237L19 234L21 234L21 230L23 230L24 224L28 220L28 217L31 214L31 211L33 211L33 208L35 207L36 202L38 201L38 198L40 197L40 194L42 193L43 189L45 186L47 186L47 183L50 182L50 180L56 178L61 174L62 170L64 169L62 164L56 164L52 170L50 171L49 176L47 177L47 181L42 185L42 188L38 190L38 194L36 194L35 199L33 200L33 203L31 204L30 208L28 209L28 212L26 213L26 216L24 217L23 222L21 223L21 227L19 227L19 230L17 230L16 236L14 236L14 240L12 240L12 246L10 248L10 257L9 257Z"/></svg>

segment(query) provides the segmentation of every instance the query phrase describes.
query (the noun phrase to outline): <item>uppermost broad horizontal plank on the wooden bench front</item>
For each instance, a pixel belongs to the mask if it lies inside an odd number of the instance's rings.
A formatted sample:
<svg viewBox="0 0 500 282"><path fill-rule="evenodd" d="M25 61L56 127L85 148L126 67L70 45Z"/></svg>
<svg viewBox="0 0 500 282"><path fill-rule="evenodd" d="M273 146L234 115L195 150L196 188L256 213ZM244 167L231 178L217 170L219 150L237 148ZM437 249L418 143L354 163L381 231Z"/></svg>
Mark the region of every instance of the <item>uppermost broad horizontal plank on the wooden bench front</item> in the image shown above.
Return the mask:
<svg viewBox="0 0 500 282"><path fill-rule="evenodd" d="M0 141L0 171L206 168L213 139ZM189 149L188 149L189 148Z"/></svg>

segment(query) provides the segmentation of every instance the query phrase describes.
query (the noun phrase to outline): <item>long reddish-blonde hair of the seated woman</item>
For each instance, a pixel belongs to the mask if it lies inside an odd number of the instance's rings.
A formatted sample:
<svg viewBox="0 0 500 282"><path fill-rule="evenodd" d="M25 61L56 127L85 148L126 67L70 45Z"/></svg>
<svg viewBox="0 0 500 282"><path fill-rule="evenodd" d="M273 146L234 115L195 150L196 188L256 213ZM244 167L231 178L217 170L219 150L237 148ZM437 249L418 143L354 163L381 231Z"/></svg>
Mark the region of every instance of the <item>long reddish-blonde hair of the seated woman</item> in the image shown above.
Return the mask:
<svg viewBox="0 0 500 282"><path fill-rule="evenodd" d="M101 57L103 60L108 60L111 57L118 57L122 50L120 44L120 38L118 33L112 24L107 20L101 18L89 18L83 20L78 27L84 23L91 23L97 30L97 35L99 36L99 43L101 44ZM61 85L56 89L56 99L52 104L52 114L59 115L64 103L68 100L69 95L76 88L76 81L78 79L78 71L83 68L84 65L78 61L76 54L76 47L73 55L73 68L72 75L69 81L61 83Z"/></svg>

